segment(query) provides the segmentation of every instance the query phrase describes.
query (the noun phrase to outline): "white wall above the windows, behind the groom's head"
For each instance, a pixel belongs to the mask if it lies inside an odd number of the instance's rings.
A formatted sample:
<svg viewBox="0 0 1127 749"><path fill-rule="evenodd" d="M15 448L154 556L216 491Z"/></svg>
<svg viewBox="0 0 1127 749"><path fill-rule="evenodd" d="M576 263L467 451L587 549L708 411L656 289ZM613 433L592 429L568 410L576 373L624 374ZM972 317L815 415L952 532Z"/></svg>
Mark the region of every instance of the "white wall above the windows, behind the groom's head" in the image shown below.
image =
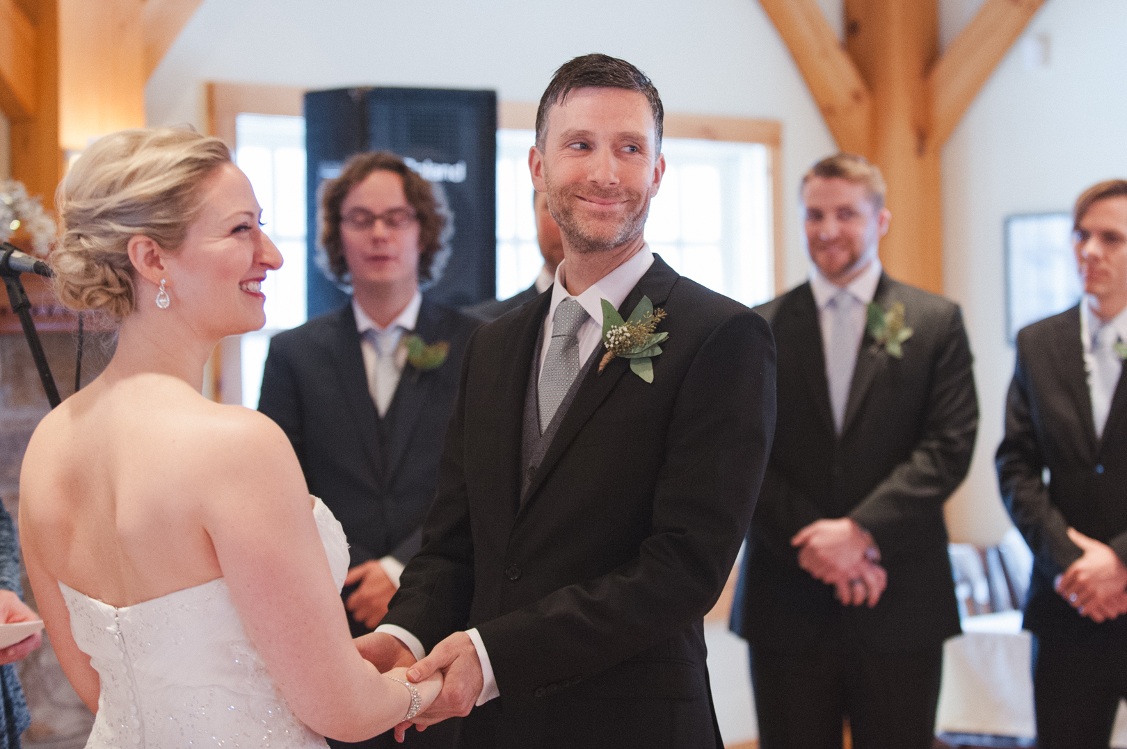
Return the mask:
<svg viewBox="0 0 1127 749"><path fill-rule="evenodd" d="M782 121L786 275L804 278L792 196L835 145L754 0L204 0L149 80L148 121L202 125L205 81L490 88L535 102L557 66L588 52L641 68L668 112Z"/></svg>

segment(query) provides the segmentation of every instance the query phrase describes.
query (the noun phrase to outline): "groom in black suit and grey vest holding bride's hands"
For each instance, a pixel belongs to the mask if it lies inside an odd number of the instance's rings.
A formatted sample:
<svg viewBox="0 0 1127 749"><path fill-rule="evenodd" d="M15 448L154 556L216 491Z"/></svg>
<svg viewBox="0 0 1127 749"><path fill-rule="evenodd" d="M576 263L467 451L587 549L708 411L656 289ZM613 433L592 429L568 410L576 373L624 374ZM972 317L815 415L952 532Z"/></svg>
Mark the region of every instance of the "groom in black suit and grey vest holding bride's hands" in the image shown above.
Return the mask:
<svg viewBox="0 0 1127 749"><path fill-rule="evenodd" d="M409 678L445 686L415 722L469 714L465 747L722 746L702 616L763 478L774 346L646 246L662 112L622 60L556 72L529 166L565 261L470 341L423 549L361 642L383 668L428 652ZM603 305L644 297L660 351L607 362Z"/></svg>

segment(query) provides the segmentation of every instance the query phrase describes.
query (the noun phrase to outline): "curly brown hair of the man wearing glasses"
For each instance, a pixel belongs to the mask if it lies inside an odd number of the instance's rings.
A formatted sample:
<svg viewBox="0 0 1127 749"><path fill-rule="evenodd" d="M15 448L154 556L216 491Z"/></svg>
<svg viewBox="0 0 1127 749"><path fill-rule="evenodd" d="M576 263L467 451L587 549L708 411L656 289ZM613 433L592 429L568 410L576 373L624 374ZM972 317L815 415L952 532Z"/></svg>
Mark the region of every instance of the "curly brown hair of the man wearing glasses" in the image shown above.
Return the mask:
<svg viewBox="0 0 1127 749"><path fill-rule="evenodd" d="M345 162L339 177L322 184L319 190L321 209L318 223L321 241L318 265L329 280L346 288L352 285L344 241L340 239L340 206L348 191L367 179L373 171L390 171L402 178L403 195L415 208L419 222L419 287L434 285L442 277L442 269L450 257L454 215L446 206L442 186L423 179L391 151L357 153Z"/></svg>

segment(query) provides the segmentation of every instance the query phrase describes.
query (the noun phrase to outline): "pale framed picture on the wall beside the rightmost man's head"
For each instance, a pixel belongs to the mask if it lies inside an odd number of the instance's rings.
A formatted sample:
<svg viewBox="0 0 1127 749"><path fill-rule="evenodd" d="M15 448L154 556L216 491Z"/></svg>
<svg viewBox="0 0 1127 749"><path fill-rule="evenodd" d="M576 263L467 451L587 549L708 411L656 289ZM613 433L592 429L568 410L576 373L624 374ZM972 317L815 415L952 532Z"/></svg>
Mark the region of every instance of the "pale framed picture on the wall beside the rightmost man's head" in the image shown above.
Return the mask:
<svg viewBox="0 0 1127 749"><path fill-rule="evenodd" d="M1031 322L1064 312L1081 295L1072 249L1072 214L1005 219L1006 326L1012 344Z"/></svg>

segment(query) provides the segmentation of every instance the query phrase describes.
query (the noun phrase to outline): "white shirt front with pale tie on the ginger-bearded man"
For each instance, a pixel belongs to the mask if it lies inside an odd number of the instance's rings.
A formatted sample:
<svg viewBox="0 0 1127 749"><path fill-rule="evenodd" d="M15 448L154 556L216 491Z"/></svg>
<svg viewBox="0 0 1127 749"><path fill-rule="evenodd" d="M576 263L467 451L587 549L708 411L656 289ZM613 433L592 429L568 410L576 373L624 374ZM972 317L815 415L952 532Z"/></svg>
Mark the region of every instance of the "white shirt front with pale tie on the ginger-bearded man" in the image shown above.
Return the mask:
<svg viewBox="0 0 1127 749"><path fill-rule="evenodd" d="M842 428L841 420L845 412L845 399L849 398L853 369L857 365L857 354L861 348L861 338L864 335L868 306L877 293L880 274L880 260L873 258L869 267L862 270L861 275L843 288L822 275L817 266L813 264L810 266L810 291L814 292L814 302L818 307L818 328L822 329L822 350L827 353L826 380L829 384L831 405L834 409L834 420L838 431ZM836 330L836 315L829 303L843 291L852 297L853 304L850 307L849 321L843 326L845 331L838 331ZM843 347L841 345L842 341L836 340L836 337L843 333L851 337L852 347ZM842 357L842 360L829 360L828 353L835 350ZM835 380L837 377L842 377L843 382L836 383Z"/></svg>

